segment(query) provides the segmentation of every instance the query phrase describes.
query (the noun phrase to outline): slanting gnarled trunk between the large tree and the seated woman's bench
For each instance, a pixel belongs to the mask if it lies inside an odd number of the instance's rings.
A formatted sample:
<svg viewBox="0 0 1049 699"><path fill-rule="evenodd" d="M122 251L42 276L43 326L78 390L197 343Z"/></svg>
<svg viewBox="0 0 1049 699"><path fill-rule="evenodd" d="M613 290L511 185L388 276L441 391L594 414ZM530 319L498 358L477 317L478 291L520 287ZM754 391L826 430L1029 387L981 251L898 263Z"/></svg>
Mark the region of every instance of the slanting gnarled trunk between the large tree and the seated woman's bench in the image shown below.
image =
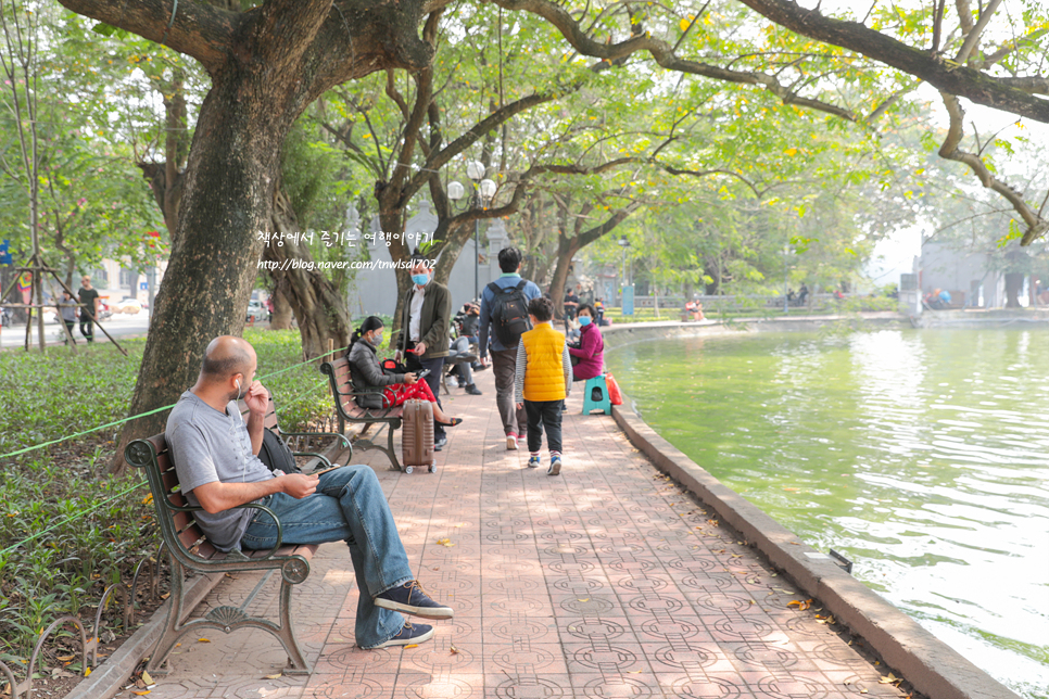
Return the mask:
<svg viewBox="0 0 1049 699"><path fill-rule="evenodd" d="M274 194L273 230L293 233L302 230L291 202L283 190ZM339 290L314 268L308 245L301 239L283 239L283 245L270 243L263 249L263 259L270 264L269 274L277 290L291 306L299 321L302 353L307 359L328 351L328 340L336 347L350 344L350 314L346 300ZM273 327L273 323L270 323Z"/></svg>

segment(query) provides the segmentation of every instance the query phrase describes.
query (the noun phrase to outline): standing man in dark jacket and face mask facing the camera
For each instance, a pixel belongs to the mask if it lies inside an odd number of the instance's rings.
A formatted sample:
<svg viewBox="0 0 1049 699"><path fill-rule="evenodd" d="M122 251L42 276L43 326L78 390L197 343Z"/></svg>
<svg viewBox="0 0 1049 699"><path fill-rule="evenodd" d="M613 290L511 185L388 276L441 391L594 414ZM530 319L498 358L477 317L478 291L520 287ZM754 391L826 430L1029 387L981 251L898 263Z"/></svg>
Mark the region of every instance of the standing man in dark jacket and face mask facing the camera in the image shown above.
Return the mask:
<svg viewBox="0 0 1049 699"><path fill-rule="evenodd" d="M432 280L430 260L412 255L412 289L402 300L401 334L397 336L396 360L418 373L429 369L425 378L430 392L441 405L441 374L448 356L452 327L452 294L447 287ZM433 422L433 448L438 452L448 443L440 422Z"/></svg>

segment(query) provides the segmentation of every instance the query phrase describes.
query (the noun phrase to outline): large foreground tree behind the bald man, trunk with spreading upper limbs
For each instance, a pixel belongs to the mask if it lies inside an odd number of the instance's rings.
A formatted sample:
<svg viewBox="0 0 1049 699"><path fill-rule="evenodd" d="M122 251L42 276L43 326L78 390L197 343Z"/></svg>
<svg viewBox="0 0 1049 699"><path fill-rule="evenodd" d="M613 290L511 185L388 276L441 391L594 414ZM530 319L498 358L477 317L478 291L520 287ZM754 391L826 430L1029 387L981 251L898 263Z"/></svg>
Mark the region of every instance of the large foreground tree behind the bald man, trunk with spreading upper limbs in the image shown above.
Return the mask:
<svg viewBox="0 0 1049 699"><path fill-rule="evenodd" d="M273 225L280 150L294 119L334 85L386 68L425 68L433 46L417 34L425 13L419 0L381 7L271 0L245 12L238 4L190 2L177 13L160 2L60 2L192 56L212 81L131 398L130 412L139 415L174 404L194 381L207 342L243 329L263 247L258 233ZM165 417L159 410L128 422L110 470L122 471L124 446L160 432Z"/></svg>

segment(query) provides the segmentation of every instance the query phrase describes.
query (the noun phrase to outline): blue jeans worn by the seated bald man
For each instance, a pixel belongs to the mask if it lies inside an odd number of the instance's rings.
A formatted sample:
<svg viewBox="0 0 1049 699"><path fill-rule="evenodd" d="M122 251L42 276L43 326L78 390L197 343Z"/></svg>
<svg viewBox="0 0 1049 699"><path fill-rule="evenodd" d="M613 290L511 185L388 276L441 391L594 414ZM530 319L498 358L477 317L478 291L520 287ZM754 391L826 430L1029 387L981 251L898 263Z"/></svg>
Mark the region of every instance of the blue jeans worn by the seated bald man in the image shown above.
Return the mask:
<svg viewBox="0 0 1049 699"><path fill-rule="evenodd" d="M344 541L357 580L357 646L374 648L401 633L404 617L381 609L376 595L415 580L386 495L367 466L344 466L320 475L317 492L295 499L283 493L260 500L280 519L285 544ZM248 525L243 548L267 549L277 543L277 526L258 511Z"/></svg>

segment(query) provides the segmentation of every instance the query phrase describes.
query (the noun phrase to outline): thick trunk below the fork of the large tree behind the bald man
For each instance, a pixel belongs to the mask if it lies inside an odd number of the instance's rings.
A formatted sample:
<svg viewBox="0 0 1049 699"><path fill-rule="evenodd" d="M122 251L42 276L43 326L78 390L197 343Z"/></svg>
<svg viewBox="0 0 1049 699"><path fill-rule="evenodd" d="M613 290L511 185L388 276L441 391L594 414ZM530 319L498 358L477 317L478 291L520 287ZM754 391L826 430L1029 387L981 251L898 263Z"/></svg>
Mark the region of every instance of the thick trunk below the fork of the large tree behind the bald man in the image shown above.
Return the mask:
<svg viewBox="0 0 1049 699"><path fill-rule="evenodd" d="M280 148L298 113L282 113L292 86L264 68L231 62L201 105L132 416L174 404L195 381L207 343L243 331L263 247L257 233L273 225ZM163 432L166 420L161 410L127 422L110 472L126 469L124 447L131 440Z"/></svg>

